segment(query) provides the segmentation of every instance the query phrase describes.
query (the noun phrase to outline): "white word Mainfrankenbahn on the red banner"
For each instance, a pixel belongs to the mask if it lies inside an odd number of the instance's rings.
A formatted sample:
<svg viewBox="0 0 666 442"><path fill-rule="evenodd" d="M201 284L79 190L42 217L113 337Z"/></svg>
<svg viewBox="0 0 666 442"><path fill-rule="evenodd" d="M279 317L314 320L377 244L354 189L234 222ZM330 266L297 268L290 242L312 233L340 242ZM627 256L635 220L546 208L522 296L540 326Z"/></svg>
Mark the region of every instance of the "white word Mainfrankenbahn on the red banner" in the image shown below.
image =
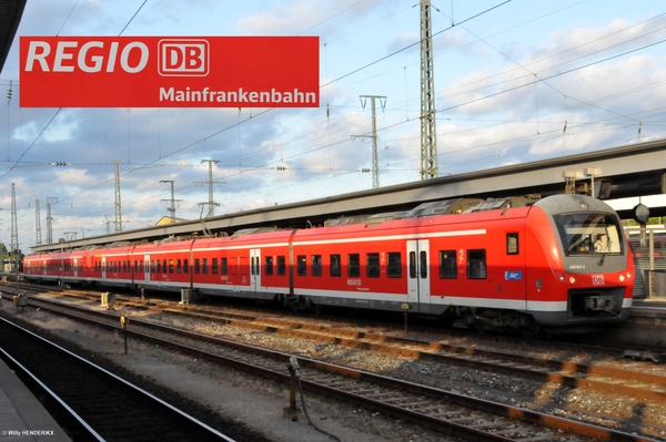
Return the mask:
<svg viewBox="0 0 666 442"><path fill-rule="evenodd" d="M316 93L293 91L248 92L243 88L238 91L214 91L210 88L202 90L176 90L174 88L160 88L160 101L172 101L179 103L316 103Z"/></svg>

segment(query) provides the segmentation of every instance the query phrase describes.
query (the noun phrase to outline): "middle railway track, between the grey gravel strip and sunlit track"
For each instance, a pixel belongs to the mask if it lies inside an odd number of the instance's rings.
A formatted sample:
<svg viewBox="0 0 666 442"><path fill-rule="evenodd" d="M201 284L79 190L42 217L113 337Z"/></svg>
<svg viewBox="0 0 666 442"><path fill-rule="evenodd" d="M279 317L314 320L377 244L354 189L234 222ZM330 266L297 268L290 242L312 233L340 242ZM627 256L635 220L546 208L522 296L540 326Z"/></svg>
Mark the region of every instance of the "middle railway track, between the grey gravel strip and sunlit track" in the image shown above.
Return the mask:
<svg viewBox="0 0 666 442"><path fill-rule="evenodd" d="M109 329L120 328L118 315L91 311L74 306L54 306L52 301L30 299L79 320L95 321ZM57 304L57 302L56 302ZM65 311L67 310L67 311ZM95 319L91 317L95 316ZM132 319L128 333L160 346L176 347L198 357L233 366L263 377L289 382L290 354L206 335L179 330ZM412 346L414 342L412 342ZM430 354L430 353L428 353ZM425 357L425 353L423 353ZM650 441L648 436L538 413L523 408L456 394L427 386L405 382L366 371L300 358L301 382L310 391L353 401L365 408L472 440L557 440L557 441ZM485 361L484 363L490 363Z"/></svg>

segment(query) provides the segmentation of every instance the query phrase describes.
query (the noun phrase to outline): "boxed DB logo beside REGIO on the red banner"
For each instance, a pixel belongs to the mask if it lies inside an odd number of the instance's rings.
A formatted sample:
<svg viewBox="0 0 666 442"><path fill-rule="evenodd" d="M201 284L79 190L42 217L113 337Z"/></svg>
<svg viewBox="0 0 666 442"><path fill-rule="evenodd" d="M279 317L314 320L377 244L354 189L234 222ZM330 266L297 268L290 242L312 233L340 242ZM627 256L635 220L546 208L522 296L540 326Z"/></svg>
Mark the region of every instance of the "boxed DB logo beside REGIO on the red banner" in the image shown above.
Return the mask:
<svg viewBox="0 0 666 442"><path fill-rule="evenodd" d="M158 71L163 76L205 76L210 50L206 40L160 40Z"/></svg>

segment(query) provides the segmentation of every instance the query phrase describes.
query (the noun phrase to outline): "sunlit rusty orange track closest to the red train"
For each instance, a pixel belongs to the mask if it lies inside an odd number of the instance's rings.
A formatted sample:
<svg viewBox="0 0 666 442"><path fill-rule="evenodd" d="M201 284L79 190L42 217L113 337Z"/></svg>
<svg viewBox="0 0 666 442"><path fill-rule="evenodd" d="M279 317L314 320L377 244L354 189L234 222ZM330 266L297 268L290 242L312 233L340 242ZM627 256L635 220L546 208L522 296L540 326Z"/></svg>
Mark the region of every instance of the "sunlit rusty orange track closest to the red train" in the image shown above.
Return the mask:
<svg viewBox="0 0 666 442"><path fill-rule="evenodd" d="M282 318L260 318L254 315L230 313L219 310L211 312L210 310L204 311L168 302L158 304L124 297L119 299L118 304L123 307L149 309L157 312L178 312L195 319L230 323L322 343L363 348L407 359L444 364L457 363L492 372L519 373L543 382L554 382L572 388L591 388L601 392L624 394L642 401L655 401L666 404L666 376L646 371L644 366L640 366L642 371L637 371L559 361L366 331L344 330Z"/></svg>

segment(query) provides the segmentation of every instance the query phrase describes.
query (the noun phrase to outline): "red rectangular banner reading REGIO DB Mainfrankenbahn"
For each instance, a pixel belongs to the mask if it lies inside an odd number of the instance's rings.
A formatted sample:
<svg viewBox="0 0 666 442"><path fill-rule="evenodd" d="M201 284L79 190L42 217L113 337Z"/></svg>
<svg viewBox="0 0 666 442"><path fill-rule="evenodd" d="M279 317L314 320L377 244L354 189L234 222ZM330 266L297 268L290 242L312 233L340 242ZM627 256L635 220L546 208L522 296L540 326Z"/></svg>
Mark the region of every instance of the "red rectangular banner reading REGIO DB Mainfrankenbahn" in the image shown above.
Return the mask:
<svg viewBox="0 0 666 442"><path fill-rule="evenodd" d="M24 107L317 107L317 37L21 37Z"/></svg>

